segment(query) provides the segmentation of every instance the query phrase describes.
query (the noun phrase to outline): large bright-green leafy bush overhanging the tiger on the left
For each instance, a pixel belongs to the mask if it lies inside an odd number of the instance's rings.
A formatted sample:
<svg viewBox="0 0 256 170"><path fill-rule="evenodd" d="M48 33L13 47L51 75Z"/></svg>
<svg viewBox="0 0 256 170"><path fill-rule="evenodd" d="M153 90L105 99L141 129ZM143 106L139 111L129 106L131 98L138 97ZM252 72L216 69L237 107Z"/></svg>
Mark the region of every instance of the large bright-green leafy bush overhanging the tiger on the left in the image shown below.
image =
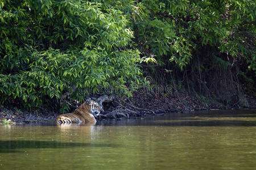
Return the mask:
<svg viewBox="0 0 256 170"><path fill-rule="evenodd" d="M139 82L138 50L122 11L87 1L0 3L1 103L61 104ZM75 87L75 88L74 88ZM54 101L54 102L53 102Z"/></svg>

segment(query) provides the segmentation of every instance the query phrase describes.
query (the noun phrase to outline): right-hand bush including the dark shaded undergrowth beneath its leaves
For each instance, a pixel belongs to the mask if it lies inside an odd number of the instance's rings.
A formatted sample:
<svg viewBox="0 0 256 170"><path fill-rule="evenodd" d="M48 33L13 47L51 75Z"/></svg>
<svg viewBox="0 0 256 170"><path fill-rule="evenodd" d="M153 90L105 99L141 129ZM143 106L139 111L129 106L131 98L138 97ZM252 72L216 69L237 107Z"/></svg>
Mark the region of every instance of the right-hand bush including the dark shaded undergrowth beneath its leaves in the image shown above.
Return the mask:
<svg viewBox="0 0 256 170"><path fill-rule="evenodd" d="M177 83L209 97L236 98L242 84L255 91L254 1L123 0L112 6L130 18L143 61L158 62L144 67L158 83L171 83L172 70Z"/></svg>

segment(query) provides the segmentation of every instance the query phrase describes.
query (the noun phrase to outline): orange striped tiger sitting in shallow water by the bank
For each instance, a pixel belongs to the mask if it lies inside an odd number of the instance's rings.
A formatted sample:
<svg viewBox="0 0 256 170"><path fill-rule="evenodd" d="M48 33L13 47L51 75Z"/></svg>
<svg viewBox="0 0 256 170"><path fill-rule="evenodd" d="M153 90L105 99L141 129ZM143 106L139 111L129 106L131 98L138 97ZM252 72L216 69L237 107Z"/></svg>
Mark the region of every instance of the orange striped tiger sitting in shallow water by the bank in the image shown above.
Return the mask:
<svg viewBox="0 0 256 170"><path fill-rule="evenodd" d="M96 123L96 117L104 112L100 104L92 99L87 99L85 103L76 108L73 113L65 113L56 117L56 124L80 124Z"/></svg>

